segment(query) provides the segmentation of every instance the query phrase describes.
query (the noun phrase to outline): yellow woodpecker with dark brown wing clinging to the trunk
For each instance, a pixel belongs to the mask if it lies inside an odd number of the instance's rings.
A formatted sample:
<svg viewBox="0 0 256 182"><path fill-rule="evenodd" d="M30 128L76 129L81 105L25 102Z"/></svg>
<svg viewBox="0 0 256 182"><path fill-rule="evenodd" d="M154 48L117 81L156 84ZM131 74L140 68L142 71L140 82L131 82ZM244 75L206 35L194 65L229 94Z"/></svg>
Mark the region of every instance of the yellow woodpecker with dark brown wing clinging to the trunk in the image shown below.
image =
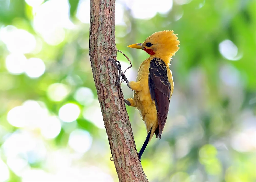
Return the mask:
<svg viewBox="0 0 256 182"><path fill-rule="evenodd" d="M133 98L124 99L124 102L140 112L147 129L147 137L138 153L140 161L154 134L161 139L174 88L169 66L172 56L179 50L179 44L173 30L164 30L153 33L143 43L129 45L130 48L142 49L150 55L141 63L136 81L129 82L121 71L120 63L116 64L119 78L122 76L127 86L133 90Z"/></svg>

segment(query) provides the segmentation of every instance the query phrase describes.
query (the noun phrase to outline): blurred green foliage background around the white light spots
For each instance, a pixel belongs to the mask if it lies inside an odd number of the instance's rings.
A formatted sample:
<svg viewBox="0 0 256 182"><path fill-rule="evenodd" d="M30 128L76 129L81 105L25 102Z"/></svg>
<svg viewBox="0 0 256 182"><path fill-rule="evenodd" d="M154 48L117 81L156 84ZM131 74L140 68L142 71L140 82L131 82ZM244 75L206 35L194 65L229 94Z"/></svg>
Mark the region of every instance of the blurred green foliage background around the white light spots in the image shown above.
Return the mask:
<svg viewBox="0 0 256 182"><path fill-rule="evenodd" d="M65 39L53 46L34 30L33 11L25 1L0 2L1 28L13 25L40 39L41 51L25 56L40 58L46 65L45 73L36 79L25 74L10 74L5 66L9 51L3 42L0 43L1 147L17 131L26 130L40 135L36 129L15 127L7 121L7 113L26 100L43 102L49 113L57 116L60 107L66 103L75 103L81 110L95 105L98 107L89 60L89 24L76 18L78 3L78 0L69 0L70 20L77 27L65 29ZM142 156L141 162L148 179L256 181L255 1L193 0L183 5L174 2L171 11L158 13L150 19L135 19L129 8L124 6L124 9L125 24L116 25L116 46L132 61L133 70L127 71L132 78L135 79L140 63L148 55L141 50L127 48L127 45L143 42L149 35L161 30L174 30L180 40L180 49L170 66L174 93L167 124L161 140L153 138ZM182 17L177 20L176 17L181 14ZM237 46L238 53L242 55L239 60L231 61L222 56L219 44L224 40L231 40ZM127 62L119 53L118 60ZM70 92L65 99L52 101L49 98L47 90L54 83L69 87ZM95 102L90 105L77 102L74 93L79 87L90 88ZM122 89L126 98L132 97L133 93L125 83ZM145 140L146 129L138 111L131 107L127 110L139 150ZM72 160L71 167L97 166L117 181L114 164L109 160L111 153L105 130L82 114L76 121L62 122L62 129L56 138L42 139L47 153L59 149L67 149L70 155L76 153L68 146L68 139L77 128L88 131L93 140L86 153ZM8 164L5 152L1 148L2 161ZM54 174L56 168L47 167L45 160L28 161L28 165L31 169ZM15 174L11 169L9 171L7 181L24 180L22 175Z"/></svg>

